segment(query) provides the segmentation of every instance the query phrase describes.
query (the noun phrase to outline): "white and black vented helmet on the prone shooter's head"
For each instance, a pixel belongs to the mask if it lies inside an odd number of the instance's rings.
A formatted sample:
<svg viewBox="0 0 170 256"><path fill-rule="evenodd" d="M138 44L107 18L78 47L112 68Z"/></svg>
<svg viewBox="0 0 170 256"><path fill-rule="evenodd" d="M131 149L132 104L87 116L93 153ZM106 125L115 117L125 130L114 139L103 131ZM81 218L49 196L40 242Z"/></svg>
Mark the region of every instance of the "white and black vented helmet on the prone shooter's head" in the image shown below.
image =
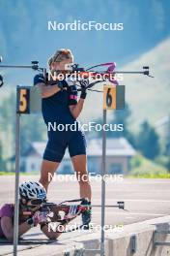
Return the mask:
<svg viewBox="0 0 170 256"><path fill-rule="evenodd" d="M19 186L19 195L26 200L46 199L46 191L38 181L25 181Z"/></svg>

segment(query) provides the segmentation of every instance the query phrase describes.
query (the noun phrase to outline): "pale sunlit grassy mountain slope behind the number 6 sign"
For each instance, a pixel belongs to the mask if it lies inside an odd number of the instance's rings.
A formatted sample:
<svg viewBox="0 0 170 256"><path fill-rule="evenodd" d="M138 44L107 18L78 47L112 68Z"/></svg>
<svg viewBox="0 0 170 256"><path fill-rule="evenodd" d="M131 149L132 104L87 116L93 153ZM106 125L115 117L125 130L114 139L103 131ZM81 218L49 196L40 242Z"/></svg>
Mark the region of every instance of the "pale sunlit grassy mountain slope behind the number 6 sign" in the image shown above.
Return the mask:
<svg viewBox="0 0 170 256"><path fill-rule="evenodd" d="M150 66L154 79L142 75L125 75L122 82L126 85L126 100L132 112L132 127L144 119L155 123L158 118L170 112L170 39L122 68L117 63L117 70L141 70L145 65ZM102 95L90 93L82 118L87 120L101 116L101 108Z"/></svg>

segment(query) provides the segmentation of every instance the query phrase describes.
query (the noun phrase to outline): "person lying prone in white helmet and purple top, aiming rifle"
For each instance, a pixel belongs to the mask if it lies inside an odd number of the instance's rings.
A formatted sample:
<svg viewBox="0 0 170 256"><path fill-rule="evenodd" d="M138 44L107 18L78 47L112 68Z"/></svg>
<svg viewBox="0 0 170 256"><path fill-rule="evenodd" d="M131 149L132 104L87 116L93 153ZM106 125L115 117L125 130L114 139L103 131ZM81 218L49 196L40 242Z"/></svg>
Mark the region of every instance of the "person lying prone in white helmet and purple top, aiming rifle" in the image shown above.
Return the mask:
<svg viewBox="0 0 170 256"><path fill-rule="evenodd" d="M40 182L27 181L19 186L19 226L18 237L31 228L40 225L42 233L50 240L56 240L61 233L48 230L47 213L40 211L41 205L33 205L33 200L46 201L46 191ZM29 208L31 215L24 215ZM14 240L14 204L5 204L0 208L0 239Z"/></svg>

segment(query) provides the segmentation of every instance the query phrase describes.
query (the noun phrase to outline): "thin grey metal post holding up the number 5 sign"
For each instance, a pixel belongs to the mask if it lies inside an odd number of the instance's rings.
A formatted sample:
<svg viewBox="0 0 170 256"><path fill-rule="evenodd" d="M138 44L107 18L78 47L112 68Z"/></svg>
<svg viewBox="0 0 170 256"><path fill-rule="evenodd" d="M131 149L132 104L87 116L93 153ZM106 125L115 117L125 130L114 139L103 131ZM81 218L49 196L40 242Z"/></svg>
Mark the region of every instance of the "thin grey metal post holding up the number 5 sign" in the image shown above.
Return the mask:
<svg viewBox="0 0 170 256"><path fill-rule="evenodd" d="M17 104L17 103L16 103ZM17 255L19 224L19 160L20 160L20 113L16 111L15 120L15 195L14 195L14 256Z"/></svg>

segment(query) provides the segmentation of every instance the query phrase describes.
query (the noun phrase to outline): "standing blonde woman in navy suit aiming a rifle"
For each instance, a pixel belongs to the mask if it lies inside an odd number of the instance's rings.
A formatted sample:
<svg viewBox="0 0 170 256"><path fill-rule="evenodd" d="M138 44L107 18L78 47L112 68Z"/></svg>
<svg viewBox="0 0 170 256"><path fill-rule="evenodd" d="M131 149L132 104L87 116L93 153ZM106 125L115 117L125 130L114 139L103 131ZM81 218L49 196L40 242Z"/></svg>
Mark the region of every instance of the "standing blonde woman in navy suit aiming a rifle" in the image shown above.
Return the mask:
<svg viewBox="0 0 170 256"><path fill-rule="evenodd" d="M73 55L70 49L59 49L49 59L48 65L50 73L65 70L67 64L73 63ZM34 79L34 85L42 90L42 116L46 126L50 124L64 125L68 127L61 129L48 129L48 142L43 153L42 170L40 182L47 191L49 185L49 174L54 175L59 167L65 150L68 147L73 169L78 177L80 187L80 197L88 198L91 202L91 186L87 171L87 156L86 156L86 140L85 135L81 130L71 130L68 124L76 123L76 120L81 113L86 98L86 90L82 90L79 100L77 101L76 85L66 80L56 81L56 84L46 85L42 75L37 75ZM50 126L51 127L51 126ZM58 126L59 127L59 126ZM87 211L83 216L83 223L90 222L91 212Z"/></svg>

